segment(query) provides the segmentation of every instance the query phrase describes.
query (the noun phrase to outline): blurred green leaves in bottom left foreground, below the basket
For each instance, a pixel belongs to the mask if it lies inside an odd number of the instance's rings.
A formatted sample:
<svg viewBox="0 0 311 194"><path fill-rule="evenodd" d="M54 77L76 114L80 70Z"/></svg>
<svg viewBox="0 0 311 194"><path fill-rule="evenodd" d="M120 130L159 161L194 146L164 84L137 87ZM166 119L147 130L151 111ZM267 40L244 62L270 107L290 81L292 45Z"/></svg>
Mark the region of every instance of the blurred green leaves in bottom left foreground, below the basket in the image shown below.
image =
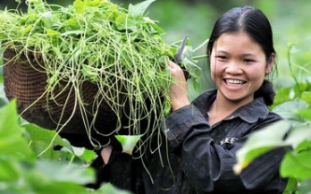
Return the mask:
<svg viewBox="0 0 311 194"><path fill-rule="evenodd" d="M86 188L84 185L95 181L94 170L86 165L94 159L94 152L71 147L55 131L21 125L18 117L15 100L0 109L1 193L129 194L110 184L99 190ZM52 139L63 149L56 151L53 146L46 146ZM40 154L42 149L48 150Z"/></svg>

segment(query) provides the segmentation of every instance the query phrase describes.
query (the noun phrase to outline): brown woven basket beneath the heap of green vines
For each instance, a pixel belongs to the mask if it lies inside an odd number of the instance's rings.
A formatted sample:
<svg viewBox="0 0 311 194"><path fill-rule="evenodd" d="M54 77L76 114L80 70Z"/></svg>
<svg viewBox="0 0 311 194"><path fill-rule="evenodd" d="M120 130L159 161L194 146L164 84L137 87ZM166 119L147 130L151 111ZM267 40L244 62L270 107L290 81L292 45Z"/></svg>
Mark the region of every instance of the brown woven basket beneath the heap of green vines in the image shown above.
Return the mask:
<svg viewBox="0 0 311 194"><path fill-rule="evenodd" d="M117 123L117 116L105 100L98 105L95 104L98 101L96 84L88 81L81 84L80 97L87 110L83 118L79 105L75 104L75 94L70 91L70 87L63 89L66 84L60 83L53 93L62 92L54 99L50 99L45 94L47 75L42 62L38 61L38 58L35 60L33 55L28 55L30 60L27 60L25 55L19 56L18 60L13 60L15 55L13 50L4 51L4 92L9 100L17 99L18 113L26 121L48 130L62 127L61 136L69 139L74 146L87 148L89 142L83 119L87 119L89 124L94 123L91 124L92 139L102 144L105 143L107 137L97 134L97 131L109 134L116 129L116 125L120 125ZM119 98L122 99L122 97ZM96 118L93 116L94 105L99 106ZM128 132L125 131L125 133Z"/></svg>

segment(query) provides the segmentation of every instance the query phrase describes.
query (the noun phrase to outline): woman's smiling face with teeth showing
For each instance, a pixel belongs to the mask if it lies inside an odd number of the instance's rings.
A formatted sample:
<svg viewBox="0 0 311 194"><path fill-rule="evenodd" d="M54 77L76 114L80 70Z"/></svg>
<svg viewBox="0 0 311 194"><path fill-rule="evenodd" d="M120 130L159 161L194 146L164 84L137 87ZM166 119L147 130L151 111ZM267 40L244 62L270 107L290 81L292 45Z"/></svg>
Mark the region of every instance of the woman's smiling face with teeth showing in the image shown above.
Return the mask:
<svg viewBox="0 0 311 194"><path fill-rule="evenodd" d="M245 32L224 33L217 41L210 57L211 75L218 95L230 102L248 104L262 85L265 74L274 62L266 62L261 46Z"/></svg>

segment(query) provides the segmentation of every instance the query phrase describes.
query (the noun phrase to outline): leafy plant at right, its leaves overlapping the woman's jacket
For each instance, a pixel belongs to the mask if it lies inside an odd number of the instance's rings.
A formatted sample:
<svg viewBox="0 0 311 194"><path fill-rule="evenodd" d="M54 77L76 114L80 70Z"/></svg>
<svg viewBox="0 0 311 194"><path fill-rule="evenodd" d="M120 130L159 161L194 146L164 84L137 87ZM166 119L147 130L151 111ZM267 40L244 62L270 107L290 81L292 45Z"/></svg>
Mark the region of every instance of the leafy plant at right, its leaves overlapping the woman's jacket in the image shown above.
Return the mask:
<svg viewBox="0 0 311 194"><path fill-rule="evenodd" d="M237 153L235 171L240 173L257 156L269 150L287 148L280 169L283 177L290 178L284 193L307 194L311 190L311 83L300 81L295 76L290 60L292 46L289 46L288 62L295 84L278 90L276 104L272 106L273 112L287 121L275 122L251 135Z"/></svg>

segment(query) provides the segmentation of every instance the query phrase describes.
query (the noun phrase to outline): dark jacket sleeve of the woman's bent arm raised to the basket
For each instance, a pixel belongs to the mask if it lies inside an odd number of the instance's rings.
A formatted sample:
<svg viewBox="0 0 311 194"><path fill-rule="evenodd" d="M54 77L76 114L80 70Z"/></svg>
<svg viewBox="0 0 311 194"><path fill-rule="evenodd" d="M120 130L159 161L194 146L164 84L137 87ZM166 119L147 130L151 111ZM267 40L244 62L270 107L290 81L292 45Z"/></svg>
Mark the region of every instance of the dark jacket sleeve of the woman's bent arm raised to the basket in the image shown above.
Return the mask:
<svg viewBox="0 0 311 194"><path fill-rule="evenodd" d="M258 157L240 175L235 175L232 169L236 164L235 152L247 137L235 141L231 149L216 144L210 136L211 127L206 118L193 105L170 114L164 122L164 129L170 146L181 153L182 170L198 193L228 188L238 193L258 190L279 171L283 152L275 149Z"/></svg>

